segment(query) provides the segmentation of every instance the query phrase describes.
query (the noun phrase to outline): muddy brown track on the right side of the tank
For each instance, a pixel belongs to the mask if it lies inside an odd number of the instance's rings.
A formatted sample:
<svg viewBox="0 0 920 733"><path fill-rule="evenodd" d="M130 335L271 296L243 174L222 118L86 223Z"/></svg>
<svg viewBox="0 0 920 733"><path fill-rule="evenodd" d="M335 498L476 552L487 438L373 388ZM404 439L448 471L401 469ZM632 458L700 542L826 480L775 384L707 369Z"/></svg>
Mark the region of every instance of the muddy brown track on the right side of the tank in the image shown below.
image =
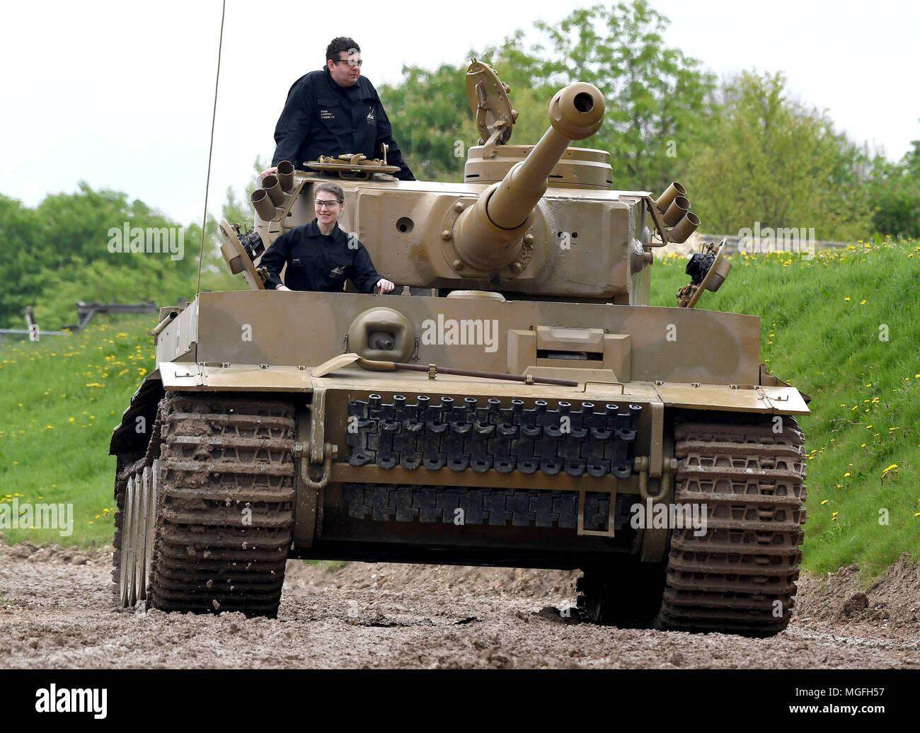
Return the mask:
<svg viewBox="0 0 920 733"><path fill-rule="evenodd" d="M786 628L804 539L804 435L788 416L688 418L674 429L674 501L707 532L674 530L659 624L770 636Z"/></svg>

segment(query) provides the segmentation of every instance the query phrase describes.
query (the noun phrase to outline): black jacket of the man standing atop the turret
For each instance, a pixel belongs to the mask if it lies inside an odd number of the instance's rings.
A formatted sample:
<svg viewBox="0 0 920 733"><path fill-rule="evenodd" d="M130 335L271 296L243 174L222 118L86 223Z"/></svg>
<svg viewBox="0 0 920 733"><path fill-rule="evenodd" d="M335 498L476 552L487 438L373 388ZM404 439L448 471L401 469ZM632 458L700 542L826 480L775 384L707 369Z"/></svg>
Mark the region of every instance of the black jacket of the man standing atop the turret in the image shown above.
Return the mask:
<svg viewBox="0 0 920 733"><path fill-rule="evenodd" d="M386 162L399 166L396 177L415 180L393 140L377 90L363 76L354 86L339 86L325 68L301 76L288 91L275 125L275 143L271 165L290 160L302 170L320 155L362 153L369 159L380 158L380 145L386 143Z"/></svg>

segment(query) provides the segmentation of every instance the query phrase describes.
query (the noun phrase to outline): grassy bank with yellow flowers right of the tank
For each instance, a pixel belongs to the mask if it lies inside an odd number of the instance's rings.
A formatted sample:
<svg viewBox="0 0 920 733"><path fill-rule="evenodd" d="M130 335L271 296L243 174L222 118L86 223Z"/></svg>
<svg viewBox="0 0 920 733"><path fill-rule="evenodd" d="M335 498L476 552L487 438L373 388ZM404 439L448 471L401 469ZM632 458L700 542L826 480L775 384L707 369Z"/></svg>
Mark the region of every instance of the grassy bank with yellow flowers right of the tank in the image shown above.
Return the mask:
<svg viewBox="0 0 920 733"><path fill-rule="evenodd" d="M651 304L675 304L688 281L683 258L656 263ZM858 562L872 577L903 552L920 556L918 282L920 246L876 240L811 261L736 256L719 292L700 300L760 315L762 360L811 395L799 420L811 573Z"/></svg>

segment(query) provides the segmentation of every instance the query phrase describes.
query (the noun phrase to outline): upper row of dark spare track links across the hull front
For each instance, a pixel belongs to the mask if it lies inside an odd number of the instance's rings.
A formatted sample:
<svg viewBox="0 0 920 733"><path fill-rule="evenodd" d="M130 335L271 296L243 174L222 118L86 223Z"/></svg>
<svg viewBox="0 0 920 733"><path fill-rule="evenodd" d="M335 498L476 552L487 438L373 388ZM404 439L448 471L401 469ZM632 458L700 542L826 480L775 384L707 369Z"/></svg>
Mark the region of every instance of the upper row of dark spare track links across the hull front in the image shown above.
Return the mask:
<svg viewBox="0 0 920 733"><path fill-rule="evenodd" d="M394 395L392 403L383 403L380 395L350 402L349 463L430 470L447 466L477 473L494 468L500 474L632 475L634 426L642 412L638 405L622 412L617 405L605 405L603 412L595 412L591 402L559 402L556 409L548 409L546 400L525 408L520 399L501 407L496 397L484 407L476 397L457 403L443 396L440 404L431 402L428 395L419 395L414 405L405 395Z"/></svg>

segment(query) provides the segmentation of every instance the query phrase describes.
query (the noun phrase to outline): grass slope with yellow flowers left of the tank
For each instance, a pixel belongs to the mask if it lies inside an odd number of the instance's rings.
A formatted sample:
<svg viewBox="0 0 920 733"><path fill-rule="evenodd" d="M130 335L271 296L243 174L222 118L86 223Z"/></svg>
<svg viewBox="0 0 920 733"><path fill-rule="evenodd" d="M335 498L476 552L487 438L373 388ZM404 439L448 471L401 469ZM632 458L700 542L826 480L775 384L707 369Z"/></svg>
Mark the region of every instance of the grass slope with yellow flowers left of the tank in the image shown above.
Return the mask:
<svg viewBox="0 0 920 733"><path fill-rule="evenodd" d="M155 316L109 316L75 334L0 347L0 501L74 505L73 534L0 529L6 542L111 543L109 437L146 372Z"/></svg>

